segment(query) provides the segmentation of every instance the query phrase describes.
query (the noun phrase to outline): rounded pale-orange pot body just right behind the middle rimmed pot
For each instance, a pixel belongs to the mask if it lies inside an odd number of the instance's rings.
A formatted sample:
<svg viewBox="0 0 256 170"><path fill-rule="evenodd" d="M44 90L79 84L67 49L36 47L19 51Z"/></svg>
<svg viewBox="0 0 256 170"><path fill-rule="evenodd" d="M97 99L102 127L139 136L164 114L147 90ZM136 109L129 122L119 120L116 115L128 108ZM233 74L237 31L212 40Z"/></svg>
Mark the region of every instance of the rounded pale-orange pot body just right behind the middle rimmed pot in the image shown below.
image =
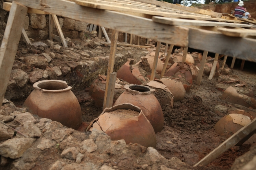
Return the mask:
<svg viewBox="0 0 256 170"><path fill-rule="evenodd" d="M162 78L160 80L173 94L174 102L184 99L186 91L182 82L166 78Z"/></svg>

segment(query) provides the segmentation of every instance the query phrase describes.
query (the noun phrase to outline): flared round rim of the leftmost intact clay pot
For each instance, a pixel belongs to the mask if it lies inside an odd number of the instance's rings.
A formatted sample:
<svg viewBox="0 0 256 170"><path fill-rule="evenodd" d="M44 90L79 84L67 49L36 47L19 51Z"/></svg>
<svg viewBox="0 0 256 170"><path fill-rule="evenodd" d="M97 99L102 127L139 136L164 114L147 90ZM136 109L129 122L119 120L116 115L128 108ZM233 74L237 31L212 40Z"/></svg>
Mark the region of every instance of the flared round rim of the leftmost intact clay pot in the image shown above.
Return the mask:
<svg viewBox="0 0 256 170"><path fill-rule="evenodd" d="M72 87L68 86L67 82L62 80L43 80L35 82L33 88L46 93L59 93L72 89Z"/></svg>

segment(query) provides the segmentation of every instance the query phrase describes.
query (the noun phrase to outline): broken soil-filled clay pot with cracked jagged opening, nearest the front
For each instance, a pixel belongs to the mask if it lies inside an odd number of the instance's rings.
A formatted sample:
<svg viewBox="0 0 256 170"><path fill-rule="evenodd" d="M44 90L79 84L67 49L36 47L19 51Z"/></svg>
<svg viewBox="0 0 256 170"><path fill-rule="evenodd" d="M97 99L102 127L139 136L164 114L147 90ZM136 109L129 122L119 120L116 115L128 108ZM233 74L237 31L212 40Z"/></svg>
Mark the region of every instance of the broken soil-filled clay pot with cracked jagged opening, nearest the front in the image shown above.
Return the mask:
<svg viewBox="0 0 256 170"><path fill-rule="evenodd" d="M134 110L137 116L121 116L111 114L117 109ZM156 134L148 119L141 109L132 104L119 104L112 108L106 108L99 116L93 128L107 133L112 141L124 139L126 144L138 143L146 147L156 148Z"/></svg>

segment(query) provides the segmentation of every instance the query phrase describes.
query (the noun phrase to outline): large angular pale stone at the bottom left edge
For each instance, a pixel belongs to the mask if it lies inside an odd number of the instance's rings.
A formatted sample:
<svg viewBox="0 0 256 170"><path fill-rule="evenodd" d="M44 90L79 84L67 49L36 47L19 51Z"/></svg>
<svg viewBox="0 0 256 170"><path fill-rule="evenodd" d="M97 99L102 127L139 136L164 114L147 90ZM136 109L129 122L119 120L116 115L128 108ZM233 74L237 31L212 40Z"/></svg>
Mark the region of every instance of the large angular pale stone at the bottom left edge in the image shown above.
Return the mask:
<svg viewBox="0 0 256 170"><path fill-rule="evenodd" d="M0 155L11 159L17 159L30 148L34 141L35 139L28 137L8 139L0 144Z"/></svg>

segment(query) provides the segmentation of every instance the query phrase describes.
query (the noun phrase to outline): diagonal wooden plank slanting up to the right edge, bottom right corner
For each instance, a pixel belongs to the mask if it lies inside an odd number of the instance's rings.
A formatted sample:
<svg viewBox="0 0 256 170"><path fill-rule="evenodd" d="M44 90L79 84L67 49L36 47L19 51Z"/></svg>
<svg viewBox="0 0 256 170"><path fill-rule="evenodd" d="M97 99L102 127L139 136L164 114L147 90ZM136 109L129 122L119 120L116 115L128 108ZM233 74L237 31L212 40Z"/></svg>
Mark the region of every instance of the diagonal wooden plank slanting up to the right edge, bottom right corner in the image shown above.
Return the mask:
<svg viewBox="0 0 256 170"><path fill-rule="evenodd" d="M231 137L229 137L226 141L224 141L217 148L215 148L208 155L206 155L203 159L201 159L198 163L196 163L194 165L194 167L198 166L198 165L202 165L202 166L208 165L209 163L211 163L211 161L213 161L219 155L223 154L230 147L239 143L239 141L242 141L244 138L246 138L248 135L250 135L251 132L254 132L255 130L256 130L256 119L253 119L252 122L250 122L246 126L243 126L243 128L238 130Z"/></svg>

